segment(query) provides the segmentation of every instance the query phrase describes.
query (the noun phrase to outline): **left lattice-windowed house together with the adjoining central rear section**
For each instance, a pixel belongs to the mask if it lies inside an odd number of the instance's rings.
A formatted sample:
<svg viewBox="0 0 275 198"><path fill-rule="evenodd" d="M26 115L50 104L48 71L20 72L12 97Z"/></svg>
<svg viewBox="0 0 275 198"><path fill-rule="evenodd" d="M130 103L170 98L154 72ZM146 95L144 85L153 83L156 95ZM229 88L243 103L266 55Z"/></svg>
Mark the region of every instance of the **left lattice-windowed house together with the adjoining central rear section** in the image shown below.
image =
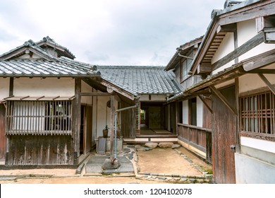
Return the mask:
<svg viewBox="0 0 275 198"><path fill-rule="evenodd" d="M123 141L176 141L166 105L166 98L180 91L173 72L93 66L74 58L50 37L29 40L0 56L5 168L76 166L106 128L109 144L115 131Z"/></svg>

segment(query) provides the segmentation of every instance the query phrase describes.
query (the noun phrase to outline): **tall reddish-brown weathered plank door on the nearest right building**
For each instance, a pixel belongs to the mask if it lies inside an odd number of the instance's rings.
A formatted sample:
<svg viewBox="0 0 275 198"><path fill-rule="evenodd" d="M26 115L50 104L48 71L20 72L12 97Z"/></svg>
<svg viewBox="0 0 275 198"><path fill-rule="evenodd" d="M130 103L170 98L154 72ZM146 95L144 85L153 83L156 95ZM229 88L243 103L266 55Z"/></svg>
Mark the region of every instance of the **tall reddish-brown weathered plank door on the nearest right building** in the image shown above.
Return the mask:
<svg viewBox="0 0 275 198"><path fill-rule="evenodd" d="M231 105L236 103L234 87L220 91ZM212 95L212 165L214 182L236 183L235 151L237 117L215 94Z"/></svg>

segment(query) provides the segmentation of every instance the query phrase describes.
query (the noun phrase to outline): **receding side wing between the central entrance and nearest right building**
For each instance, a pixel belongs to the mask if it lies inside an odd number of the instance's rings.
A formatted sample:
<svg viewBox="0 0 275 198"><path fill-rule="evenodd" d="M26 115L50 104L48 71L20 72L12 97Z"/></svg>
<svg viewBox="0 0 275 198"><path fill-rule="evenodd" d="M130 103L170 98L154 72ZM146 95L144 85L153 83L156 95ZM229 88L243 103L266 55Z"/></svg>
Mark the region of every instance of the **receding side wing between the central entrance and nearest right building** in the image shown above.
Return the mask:
<svg viewBox="0 0 275 198"><path fill-rule="evenodd" d="M166 66L167 71L173 71L181 89L185 90L193 84L202 81L199 75L192 75L192 62L200 47L202 37L186 42L176 49L171 61ZM212 163L211 135L211 100L207 93L184 97L180 92L168 99L168 103L177 109L175 122L178 131L178 143L188 148L197 156Z"/></svg>

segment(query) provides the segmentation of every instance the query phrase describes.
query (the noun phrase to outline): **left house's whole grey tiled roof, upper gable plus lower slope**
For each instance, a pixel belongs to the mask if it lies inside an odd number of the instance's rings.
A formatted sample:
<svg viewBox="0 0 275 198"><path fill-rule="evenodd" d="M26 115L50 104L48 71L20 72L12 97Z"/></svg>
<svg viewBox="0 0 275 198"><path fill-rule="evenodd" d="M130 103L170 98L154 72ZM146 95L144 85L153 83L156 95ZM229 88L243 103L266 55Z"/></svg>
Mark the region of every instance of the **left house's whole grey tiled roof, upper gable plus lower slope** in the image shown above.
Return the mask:
<svg viewBox="0 0 275 198"><path fill-rule="evenodd" d="M44 38L45 40L46 38ZM49 42L54 42L47 37ZM57 44L56 44L57 45ZM61 47L61 45L60 45ZM13 54L25 54L25 50L34 50L41 59L10 59ZM0 55L0 76L1 77L49 77L49 76L99 76L96 67L90 64L77 62L67 57L54 57L39 47L32 40L26 41L23 45L16 47L9 52Z"/></svg>

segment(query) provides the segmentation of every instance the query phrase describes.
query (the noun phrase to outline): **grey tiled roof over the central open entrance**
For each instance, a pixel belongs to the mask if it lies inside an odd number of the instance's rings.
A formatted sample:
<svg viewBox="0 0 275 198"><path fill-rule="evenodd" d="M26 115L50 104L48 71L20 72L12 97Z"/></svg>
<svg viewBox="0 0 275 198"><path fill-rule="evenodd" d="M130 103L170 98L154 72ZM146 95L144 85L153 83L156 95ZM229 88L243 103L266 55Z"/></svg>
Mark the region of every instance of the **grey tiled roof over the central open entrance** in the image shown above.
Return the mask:
<svg viewBox="0 0 275 198"><path fill-rule="evenodd" d="M138 94L175 94L181 91L172 71L163 66L97 66L102 78Z"/></svg>

